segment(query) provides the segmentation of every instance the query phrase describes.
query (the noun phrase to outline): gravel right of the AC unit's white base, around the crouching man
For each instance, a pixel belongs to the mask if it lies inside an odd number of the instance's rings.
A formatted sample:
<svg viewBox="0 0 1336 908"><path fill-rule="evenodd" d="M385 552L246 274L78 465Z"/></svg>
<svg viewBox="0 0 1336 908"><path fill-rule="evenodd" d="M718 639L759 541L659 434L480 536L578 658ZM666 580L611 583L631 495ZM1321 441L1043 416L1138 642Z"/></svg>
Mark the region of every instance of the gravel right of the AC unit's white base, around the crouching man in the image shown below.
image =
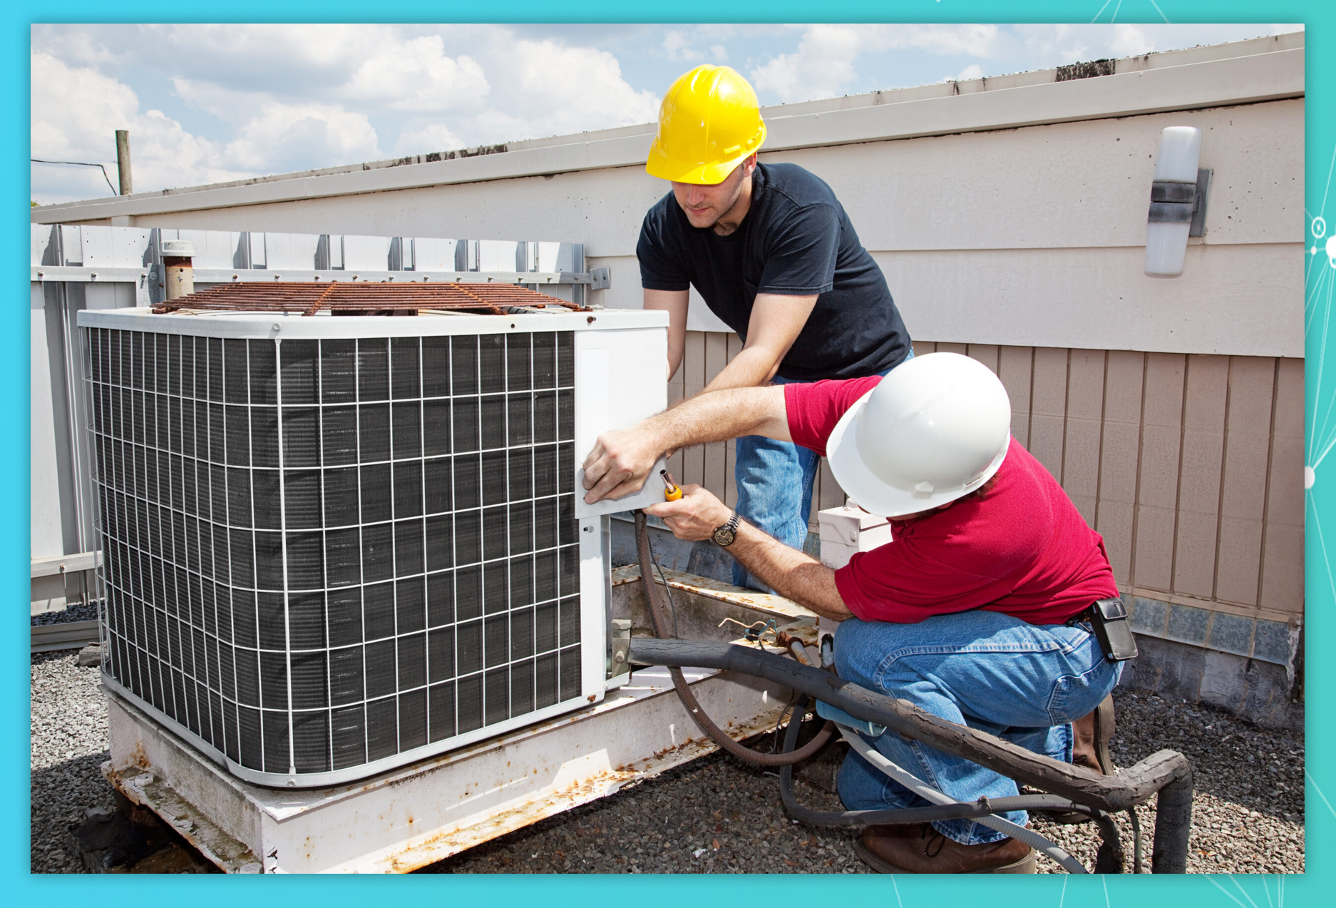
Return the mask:
<svg viewBox="0 0 1336 908"><path fill-rule="evenodd" d="M1188 869L1194 873L1303 873L1304 744L1208 707L1117 693L1113 758L1126 766L1165 748L1196 769ZM633 789L550 817L426 868L440 873L864 873L854 833L812 829L784 816L779 780L713 754ZM802 780L799 800L839 809L838 798ZM1138 809L1150 867L1153 806ZM1037 830L1094 865L1092 824L1061 826L1035 816ZM1132 828L1118 825L1132 871ZM717 845L715 844L717 841ZM716 850L717 848L717 850ZM1039 857L1041 872L1062 872Z"/></svg>

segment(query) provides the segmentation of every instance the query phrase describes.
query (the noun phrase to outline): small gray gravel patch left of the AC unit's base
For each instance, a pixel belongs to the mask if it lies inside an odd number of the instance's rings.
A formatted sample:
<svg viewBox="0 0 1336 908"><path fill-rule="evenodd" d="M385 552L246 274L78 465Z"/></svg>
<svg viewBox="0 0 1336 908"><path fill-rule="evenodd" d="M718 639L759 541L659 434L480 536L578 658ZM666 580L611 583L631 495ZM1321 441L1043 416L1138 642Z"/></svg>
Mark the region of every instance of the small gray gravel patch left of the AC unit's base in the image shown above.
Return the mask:
<svg viewBox="0 0 1336 908"><path fill-rule="evenodd" d="M98 766L107 760L107 701L98 669L75 665L77 650L32 657L32 872L83 872L71 822L112 806Z"/></svg>

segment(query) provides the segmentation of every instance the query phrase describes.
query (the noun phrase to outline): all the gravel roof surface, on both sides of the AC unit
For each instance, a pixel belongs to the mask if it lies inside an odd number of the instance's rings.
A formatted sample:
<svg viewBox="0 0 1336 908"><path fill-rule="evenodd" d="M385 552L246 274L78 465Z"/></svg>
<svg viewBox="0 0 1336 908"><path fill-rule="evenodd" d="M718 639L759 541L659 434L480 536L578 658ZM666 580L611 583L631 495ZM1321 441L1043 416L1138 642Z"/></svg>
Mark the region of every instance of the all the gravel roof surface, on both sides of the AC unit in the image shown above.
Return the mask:
<svg viewBox="0 0 1336 908"><path fill-rule="evenodd" d="M1150 753L1181 750L1196 769L1197 794L1188 868L1192 872L1304 871L1304 744L1297 731L1259 729L1217 710L1116 693L1113 756L1130 765ZM767 741L768 746L768 741ZM32 871L77 872L67 824L110 806L98 772L107 758L107 709L98 670L75 653L32 657ZM838 809L819 772L799 780L799 800ZM828 784L828 778L824 780ZM1140 809L1149 871L1154 810ZM1132 855L1126 814L1118 816ZM1088 867L1098 844L1093 825L1034 826ZM854 833L812 829L784 816L772 772L712 754L612 797L549 817L426 868L436 873L862 873ZM1041 872L1058 872L1039 857Z"/></svg>

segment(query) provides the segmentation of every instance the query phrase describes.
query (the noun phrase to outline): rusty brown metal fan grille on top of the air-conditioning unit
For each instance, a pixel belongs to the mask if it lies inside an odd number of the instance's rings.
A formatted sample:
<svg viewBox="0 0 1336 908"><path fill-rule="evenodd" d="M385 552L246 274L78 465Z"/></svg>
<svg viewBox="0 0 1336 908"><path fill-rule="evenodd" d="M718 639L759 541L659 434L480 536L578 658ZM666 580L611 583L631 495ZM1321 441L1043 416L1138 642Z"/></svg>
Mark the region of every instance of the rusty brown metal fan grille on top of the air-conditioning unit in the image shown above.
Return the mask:
<svg viewBox="0 0 1336 908"><path fill-rule="evenodd" d="M182 309L236 312L283 312L314 316L333 312L346 316L415 314L421 310L480 312L505 314L513 309L582 310L545 293L514 283L389 283L389 282L274 282L219 283L186 297L154 306L155 313Z"/></svg>

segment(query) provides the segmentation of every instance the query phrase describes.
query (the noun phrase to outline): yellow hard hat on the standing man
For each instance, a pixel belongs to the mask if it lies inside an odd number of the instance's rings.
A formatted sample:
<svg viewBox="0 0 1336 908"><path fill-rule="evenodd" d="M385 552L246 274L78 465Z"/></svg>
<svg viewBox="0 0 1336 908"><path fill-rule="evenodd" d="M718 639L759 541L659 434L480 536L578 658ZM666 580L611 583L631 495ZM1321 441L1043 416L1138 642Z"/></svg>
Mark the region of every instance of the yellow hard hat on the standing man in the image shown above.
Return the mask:
<svg viewBox="0 0 1336 908"><path fill-rule="evenodd" d="M664 95L645 171L677 183L721 183L764 140L751 84L728 67L699 66Z"/></svg>

